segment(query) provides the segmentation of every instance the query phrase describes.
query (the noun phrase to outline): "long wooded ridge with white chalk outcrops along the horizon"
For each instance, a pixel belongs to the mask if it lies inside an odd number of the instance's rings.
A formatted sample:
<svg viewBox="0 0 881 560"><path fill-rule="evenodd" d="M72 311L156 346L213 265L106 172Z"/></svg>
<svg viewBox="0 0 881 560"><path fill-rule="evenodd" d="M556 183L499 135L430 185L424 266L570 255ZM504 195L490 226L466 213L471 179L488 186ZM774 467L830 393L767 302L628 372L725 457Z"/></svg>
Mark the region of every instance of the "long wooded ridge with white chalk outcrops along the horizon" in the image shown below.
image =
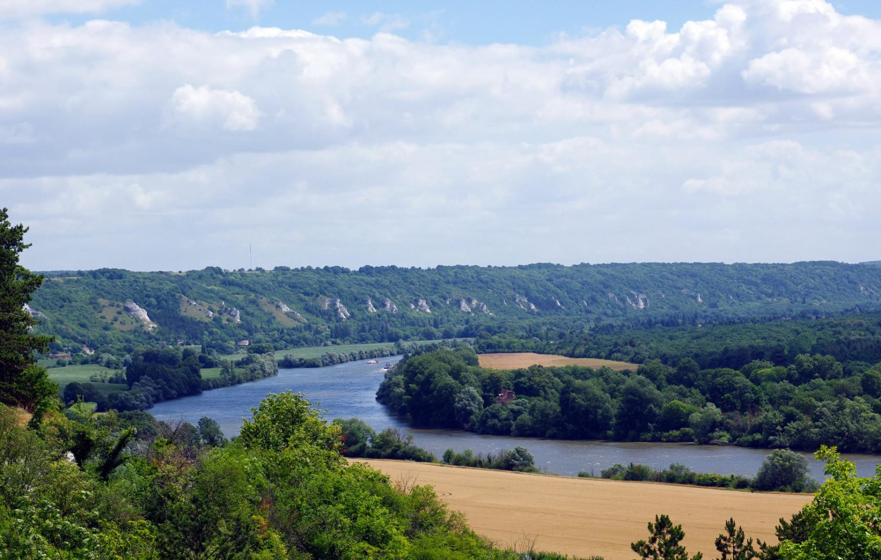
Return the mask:
<svg viewBox="0 0 881 560"><path fill-rule="evenodd" d="M52 350L150 343L229 354L323 343L560 337L816 318L881 305L881 267L630 263L46 273L28 308ZM574 349L578 350L578 349Z"/></svg>

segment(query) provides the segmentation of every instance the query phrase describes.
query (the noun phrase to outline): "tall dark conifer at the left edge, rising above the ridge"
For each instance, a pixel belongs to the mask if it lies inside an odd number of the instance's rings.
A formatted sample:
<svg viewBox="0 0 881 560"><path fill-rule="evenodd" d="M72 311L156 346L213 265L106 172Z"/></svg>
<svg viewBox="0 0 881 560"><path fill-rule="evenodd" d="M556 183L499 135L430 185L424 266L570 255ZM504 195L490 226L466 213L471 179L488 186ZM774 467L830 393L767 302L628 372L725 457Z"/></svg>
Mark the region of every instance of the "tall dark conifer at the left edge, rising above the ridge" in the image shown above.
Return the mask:
<svg viewBox="0 0 881 560"><path fill-rule="evenodd" d="M37 321L25 311L43 277L19 265L27 228L11 225L0 210L0 402L28 410L56 394L58 387L36 365L35 352L48 350L51 338L33 334Z"/></svg>

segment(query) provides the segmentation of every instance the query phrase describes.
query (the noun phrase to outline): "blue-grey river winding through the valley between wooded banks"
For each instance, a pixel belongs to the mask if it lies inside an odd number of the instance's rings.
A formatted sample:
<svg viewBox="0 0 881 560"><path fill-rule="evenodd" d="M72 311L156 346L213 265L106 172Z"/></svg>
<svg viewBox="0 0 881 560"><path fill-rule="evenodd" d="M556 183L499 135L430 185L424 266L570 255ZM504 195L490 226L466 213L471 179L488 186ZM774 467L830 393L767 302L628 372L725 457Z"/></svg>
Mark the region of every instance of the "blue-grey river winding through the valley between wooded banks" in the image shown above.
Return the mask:
<svg viewBox="0 0 881 560"><path fill-rule="evenodd" d="M766 449L748 449L736 446L697 446L663 443L621 443L606 441L566 441L558 439L506 438L481 436L468 431L411 430L400 419L389 416L385 407L376 402L385 371L382 365L400 357L380 360L380 365L368 365L366 360L330 365L322 368L284 369L278 376L259 379L233 387L205 391L174 401L160 402L149 410L160 420L185 420L196 424L199 418L210 416L218 421L226 436L239 433L241 420L250 417L251 407L257 406L266 394L280 393L285 389L302 393L313 404L327 409L325 418L357 417L370 424L374 430L397 427L412 433L416 445L439 458L452 447L461 453L471 449L474 453L498 453L503 449L524 446L536 459L536 467L546 472L574 476L579 471L593 472L614 463L629 462L666 468L670 463L682 463L695 472L722 475L755 475L762 460L770 453ZM808 457L811 476L822 480L823 464ZM875 466L881 463L881 455L848 454L861 476L875 474Z"/></svg>

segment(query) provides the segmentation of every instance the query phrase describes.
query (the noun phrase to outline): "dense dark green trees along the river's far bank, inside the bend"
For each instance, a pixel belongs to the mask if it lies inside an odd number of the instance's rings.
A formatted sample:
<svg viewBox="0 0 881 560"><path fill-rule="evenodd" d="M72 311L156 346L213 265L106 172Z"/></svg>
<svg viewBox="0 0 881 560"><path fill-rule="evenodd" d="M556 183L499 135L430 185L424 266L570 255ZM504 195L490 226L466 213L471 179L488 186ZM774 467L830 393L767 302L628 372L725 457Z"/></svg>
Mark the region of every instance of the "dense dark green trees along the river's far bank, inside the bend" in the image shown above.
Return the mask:
<svg viewBox="0 0 881 560"><path fill-rule="evenodd" d="M651 360L637 371L479 367L460 346L405 356L377 399L418 428L493 435L698 442L881 451L881 367L803 354L792 365L752 361L701 370ZM515 398L500 399L503 391Z"/></svg>

